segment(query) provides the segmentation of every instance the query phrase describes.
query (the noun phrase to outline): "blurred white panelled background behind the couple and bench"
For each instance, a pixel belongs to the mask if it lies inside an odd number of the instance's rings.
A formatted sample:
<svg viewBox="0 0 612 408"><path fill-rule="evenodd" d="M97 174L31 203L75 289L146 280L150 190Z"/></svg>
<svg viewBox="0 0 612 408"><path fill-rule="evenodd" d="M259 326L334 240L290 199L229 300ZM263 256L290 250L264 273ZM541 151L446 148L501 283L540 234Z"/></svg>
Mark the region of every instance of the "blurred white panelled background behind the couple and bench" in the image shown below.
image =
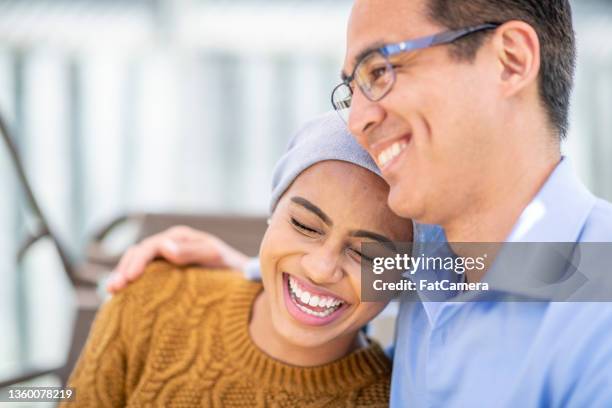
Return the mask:
<svg viewBox="0 0 612 408"><path fill-rule="evenodd" d="M612 199L612 5L575 1L566 154ZM299 124L331 108L351 2L0 0L0 111L43 210L82 253L127 211L264 214ZM0 146L0 376L60 364L74 295L44 248L14 254L25 204Z"/></svg>

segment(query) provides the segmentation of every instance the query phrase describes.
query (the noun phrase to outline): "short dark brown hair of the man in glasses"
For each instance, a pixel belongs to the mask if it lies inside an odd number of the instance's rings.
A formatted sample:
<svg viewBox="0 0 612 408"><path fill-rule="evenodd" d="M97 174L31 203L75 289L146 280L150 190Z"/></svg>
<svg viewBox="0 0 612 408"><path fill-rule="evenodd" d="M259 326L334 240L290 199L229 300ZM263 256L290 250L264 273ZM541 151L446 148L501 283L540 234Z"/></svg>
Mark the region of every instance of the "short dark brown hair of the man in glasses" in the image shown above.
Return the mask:
<svg viewBox="0 0 612 408"><path fill-rule="evenodd" d="M427 0L429 17L449 29L520 20L538 34L541 49L540 97L560 139L567 136L576 66L576 38L569 0ZM471 61L486 32L457 41L451 55Z"/></svg>

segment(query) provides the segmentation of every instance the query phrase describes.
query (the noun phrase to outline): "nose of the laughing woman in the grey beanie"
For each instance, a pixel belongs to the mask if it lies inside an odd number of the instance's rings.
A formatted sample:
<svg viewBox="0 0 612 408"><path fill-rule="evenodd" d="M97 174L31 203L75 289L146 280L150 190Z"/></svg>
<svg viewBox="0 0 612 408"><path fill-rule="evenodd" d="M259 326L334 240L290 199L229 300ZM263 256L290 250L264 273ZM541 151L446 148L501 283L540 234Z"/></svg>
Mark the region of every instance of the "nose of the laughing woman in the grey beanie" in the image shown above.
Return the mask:
<svg viewBox="0 0 612 408"><path fill-rule="evenodd" d="M336 283L342 279L341 253L333 245L322 245L302 257L304 274L317 284Z"/></svg>

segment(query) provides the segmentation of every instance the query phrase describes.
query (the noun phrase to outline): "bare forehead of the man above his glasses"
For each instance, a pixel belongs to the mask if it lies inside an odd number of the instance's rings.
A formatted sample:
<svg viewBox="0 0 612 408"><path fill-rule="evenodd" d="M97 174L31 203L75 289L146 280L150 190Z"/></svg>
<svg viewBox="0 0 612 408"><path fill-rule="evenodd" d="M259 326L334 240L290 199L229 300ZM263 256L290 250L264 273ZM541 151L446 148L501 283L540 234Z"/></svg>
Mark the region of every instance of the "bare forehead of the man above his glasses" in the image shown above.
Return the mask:
<svg viewBox="0 0 612 408"><path fill-rule="evenodd" d="M427 31L425 0L357 0L347 30L345 68L371 48L416 38Z"/></svg>

